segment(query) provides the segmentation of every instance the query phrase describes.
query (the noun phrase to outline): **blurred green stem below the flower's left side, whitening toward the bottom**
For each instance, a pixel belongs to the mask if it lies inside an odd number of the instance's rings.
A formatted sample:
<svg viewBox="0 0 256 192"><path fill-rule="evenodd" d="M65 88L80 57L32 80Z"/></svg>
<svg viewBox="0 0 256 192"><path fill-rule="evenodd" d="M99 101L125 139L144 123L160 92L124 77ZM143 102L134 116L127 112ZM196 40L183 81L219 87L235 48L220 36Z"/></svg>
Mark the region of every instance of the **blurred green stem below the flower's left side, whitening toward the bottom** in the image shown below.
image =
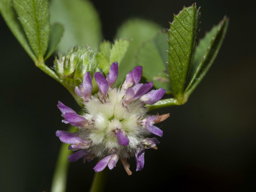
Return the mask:
<svg viewBox="0 0 256 192"><path fill-rule="evenodd" d="M76 131L75 129L76 129L75 127L70 126L68 129L68 132L75 132ZM69 144L66 144L66 143L61 144L57 164L53 174L51 192L66 191L66 181L67 181L67 173L68 173L68 165L69 165L67 156L71 155L72 153L71 150L68 150L68 145Z"/></svg>

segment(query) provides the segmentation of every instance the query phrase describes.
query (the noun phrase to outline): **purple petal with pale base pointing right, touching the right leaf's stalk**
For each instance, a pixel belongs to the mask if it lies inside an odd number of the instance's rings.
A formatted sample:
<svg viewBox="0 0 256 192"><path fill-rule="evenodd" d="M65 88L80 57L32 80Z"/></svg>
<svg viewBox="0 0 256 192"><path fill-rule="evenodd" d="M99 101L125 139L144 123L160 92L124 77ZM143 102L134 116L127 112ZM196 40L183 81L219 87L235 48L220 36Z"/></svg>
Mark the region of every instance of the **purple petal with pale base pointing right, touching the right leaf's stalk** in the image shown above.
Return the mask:
<svg viewBox="0 0 256 192"><path fill-rule="evenodd" d="M152 90L140 97L140 100L142 100L145 104L153 105L164 96L165 92L166 91L163 88L160 88L158 90Z"/></svg>

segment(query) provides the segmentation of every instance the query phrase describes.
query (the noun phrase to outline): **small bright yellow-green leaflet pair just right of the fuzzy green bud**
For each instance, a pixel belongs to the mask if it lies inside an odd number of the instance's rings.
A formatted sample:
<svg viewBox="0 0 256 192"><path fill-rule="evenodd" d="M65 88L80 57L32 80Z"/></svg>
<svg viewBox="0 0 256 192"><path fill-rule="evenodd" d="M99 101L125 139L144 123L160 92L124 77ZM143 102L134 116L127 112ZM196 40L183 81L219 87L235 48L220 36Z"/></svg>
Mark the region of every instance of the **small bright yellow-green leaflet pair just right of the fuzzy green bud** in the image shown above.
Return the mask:
<svg viewBox="0 0 256 192"><path fill-rule="evenodd" d="M96 60L105 75L109 72L110 65L113 62L117 61L118 65L122 63L129 44L130 41L126 39L116 40L113 45L109 41L100 44L100 51L97 52Z"/></svg>

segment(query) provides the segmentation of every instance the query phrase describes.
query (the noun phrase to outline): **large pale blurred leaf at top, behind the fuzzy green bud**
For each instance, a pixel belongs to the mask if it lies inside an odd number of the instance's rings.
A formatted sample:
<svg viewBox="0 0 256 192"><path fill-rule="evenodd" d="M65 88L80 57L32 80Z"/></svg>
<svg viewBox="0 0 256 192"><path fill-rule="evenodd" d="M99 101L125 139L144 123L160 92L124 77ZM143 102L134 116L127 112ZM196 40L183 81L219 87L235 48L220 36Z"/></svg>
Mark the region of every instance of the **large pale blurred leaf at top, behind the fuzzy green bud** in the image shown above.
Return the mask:
<svg viewBox="0 0 256 192"><path fill-rule="evenodd" d="M66 52L74 45L99 48L102 40L100 18L92 3L87 0L52 0L51 23L64 26L64 35L58 49Z"/></svg>

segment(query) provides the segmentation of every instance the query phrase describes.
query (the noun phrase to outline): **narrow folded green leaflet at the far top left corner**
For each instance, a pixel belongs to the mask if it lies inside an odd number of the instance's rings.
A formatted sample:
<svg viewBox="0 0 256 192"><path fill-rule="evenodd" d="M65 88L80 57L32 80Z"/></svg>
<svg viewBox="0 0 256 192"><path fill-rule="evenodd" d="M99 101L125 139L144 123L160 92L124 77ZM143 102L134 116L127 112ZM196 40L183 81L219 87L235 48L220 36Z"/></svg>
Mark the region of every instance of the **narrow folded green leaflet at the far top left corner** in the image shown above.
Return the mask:
<svg viewBox="0 0 256 192"><path fill-rule="evenodd" d="M31 57L31 59L35 61L36 56L29 46L26 34L25 34L23 27L21 26L20 21L18 20L18 16L16 15L16 12L12 6L12 0L1 0L0 1L0 12L1 12L6 24L12 31L13 35L16 37L16 39L19 41L19 43L24 48L24 50L28 53L28 55Z"/></svg>

